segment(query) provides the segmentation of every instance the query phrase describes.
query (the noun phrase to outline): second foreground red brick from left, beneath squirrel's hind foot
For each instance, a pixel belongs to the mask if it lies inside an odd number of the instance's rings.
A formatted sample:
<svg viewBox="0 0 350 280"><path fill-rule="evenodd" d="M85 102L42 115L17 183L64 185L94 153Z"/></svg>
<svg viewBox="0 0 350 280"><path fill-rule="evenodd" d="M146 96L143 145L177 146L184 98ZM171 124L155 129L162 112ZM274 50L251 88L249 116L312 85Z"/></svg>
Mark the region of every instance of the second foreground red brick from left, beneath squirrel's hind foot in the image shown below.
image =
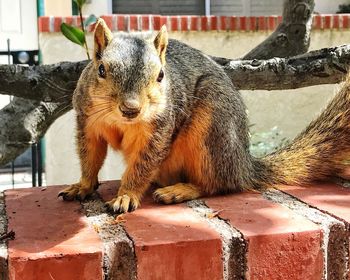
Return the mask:
<svg viewBox="0 0 350 280"><path fill-rule="evenodd" d="M104 200L113 198L116 184L100 186ZM148 197L124 219L135 246L138 279L222 279L219 235L184 204L158 205Z"/></svg>

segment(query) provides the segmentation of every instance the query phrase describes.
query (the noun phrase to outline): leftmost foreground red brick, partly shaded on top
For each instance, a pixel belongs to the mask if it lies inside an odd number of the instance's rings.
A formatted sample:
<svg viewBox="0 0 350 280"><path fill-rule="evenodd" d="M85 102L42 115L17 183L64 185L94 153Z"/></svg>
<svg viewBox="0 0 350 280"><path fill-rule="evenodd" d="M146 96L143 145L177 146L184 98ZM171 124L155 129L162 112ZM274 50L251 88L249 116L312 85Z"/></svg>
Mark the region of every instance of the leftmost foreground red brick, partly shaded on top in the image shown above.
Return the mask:
<svg viewBox="0 0 350 280"><path fill-rule="evenodd" d="M6 191L10 279L102 279L102 243L78 202L57 199L61 187Z"/></svg>

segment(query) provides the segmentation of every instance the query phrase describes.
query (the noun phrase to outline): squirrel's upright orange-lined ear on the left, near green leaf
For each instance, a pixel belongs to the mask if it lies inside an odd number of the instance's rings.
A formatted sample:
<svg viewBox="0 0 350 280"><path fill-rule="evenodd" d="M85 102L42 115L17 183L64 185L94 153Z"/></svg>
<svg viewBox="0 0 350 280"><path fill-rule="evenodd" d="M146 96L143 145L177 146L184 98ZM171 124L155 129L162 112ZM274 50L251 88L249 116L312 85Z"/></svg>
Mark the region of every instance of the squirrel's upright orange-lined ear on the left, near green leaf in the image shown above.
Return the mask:
<svg viewBox="0 0 350 280"><path fill-rule="evenodd" d="M107 47L108 43L112 40L112 32L109 30L107 24L102 18L99 18L96 23L94 33L94 60L101 59L102 52Z"/></svg>

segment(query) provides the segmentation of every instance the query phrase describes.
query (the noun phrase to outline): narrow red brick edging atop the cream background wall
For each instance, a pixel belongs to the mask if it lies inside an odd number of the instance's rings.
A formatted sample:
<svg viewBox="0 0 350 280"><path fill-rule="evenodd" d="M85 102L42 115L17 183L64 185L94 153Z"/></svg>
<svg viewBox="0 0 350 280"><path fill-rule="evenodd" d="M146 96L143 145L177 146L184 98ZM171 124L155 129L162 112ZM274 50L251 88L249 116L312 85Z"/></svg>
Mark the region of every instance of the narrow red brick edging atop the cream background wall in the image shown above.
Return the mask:
<svg viewBox="0 0 350 280"><path fill-rule="evenodd" d="M282 22L282 16L161 16L161 15L104 15L112 31L153 31L164 24L169 31L272 31ZM40 17L39 32L60 32L62 22L79 26L80 18ZM350 28L350 14L313 16L314 30ZM89 27L89 32L93 26Z"/></svg>

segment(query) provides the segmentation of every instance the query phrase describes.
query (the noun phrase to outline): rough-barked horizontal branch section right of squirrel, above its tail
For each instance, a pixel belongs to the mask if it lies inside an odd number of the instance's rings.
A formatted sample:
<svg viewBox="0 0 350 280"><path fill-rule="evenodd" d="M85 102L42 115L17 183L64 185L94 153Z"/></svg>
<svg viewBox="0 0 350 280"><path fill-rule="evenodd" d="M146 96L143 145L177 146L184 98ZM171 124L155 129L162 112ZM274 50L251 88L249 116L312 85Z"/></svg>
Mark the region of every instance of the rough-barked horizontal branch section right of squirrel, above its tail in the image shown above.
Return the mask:
<svg viewBox="0 0 350 280"><path fill-rule="evenodd" d="M224 67L238 89L295 89L344 80L350 45L312 51L291 58L232 60Z"/></svg>

